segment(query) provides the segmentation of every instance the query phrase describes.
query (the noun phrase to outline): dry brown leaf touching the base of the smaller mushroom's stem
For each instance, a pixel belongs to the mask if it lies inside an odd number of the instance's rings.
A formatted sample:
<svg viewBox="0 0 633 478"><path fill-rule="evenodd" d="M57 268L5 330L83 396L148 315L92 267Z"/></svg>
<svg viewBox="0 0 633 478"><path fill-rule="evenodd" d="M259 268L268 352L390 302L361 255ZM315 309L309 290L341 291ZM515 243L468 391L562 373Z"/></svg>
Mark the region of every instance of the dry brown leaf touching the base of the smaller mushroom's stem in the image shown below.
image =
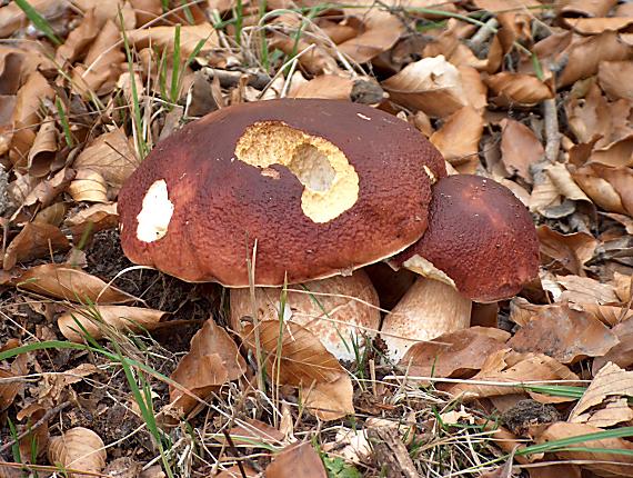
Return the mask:
<svg viewBox="0 0 633 478"><path fill-rule="evenodd" d="M506 348L504 330L471 327L413 345L400 360L408 375L418 377L462 377L480 370L488 356Z"/></svg>

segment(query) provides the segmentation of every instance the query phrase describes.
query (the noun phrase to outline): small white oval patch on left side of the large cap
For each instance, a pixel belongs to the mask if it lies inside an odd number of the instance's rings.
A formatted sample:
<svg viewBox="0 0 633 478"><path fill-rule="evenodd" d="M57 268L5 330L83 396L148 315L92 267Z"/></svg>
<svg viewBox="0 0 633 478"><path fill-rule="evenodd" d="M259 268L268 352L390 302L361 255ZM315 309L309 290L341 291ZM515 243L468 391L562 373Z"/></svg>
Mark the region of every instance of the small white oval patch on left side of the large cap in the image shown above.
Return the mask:
<svg viewBox="0 0 633 478"><path fill-rule="evenodd" d="M141 212L137 216L137 239L153 242L163 238L172 215L173 203L169 200L167 182L159 179L148 189Z"/></svg>

